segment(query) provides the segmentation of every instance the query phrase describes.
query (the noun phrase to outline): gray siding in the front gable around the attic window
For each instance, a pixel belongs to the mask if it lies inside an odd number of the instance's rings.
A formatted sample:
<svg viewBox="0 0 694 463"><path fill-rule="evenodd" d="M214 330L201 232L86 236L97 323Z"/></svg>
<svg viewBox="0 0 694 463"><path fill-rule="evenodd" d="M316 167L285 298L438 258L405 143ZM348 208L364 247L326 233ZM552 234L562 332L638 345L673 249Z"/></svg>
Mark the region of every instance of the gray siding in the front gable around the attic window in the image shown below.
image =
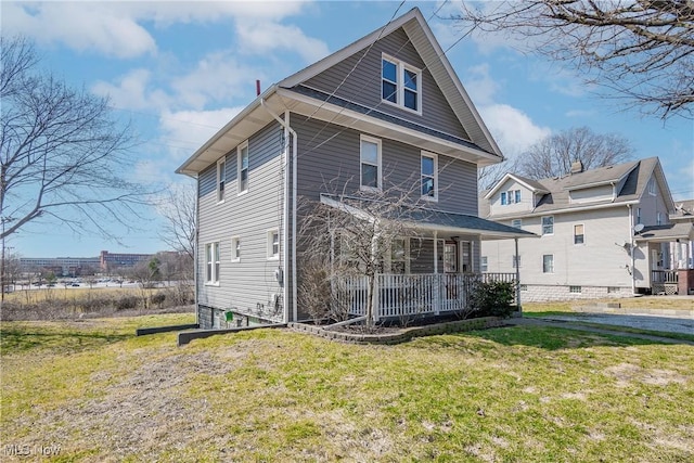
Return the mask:
<svg viewBox="0 0 694 463"><path fill-rule="evenodd" d="M449 102L439 89L436 80L428 69L424 68L424 62L410 42L403 29L381 38L364 56L364 50L360 50L348 59L336 64L332 68L308 79L305 86L327 93L335 92L336 97L377 108L382 113L389 114L422 125L435 130L449 133L454 137L471 140L458 117L450 107ZM381 100L381 57L386 53L411 66L422 69L422 115L407 110L400 110ZM362 57L363 56L363 57ZM361 60L359 65L355 65ZM350 74L351 73L351 74ZM345 76L349 77L343 82ZM335 91L337 89L337 91Z"/></svg>

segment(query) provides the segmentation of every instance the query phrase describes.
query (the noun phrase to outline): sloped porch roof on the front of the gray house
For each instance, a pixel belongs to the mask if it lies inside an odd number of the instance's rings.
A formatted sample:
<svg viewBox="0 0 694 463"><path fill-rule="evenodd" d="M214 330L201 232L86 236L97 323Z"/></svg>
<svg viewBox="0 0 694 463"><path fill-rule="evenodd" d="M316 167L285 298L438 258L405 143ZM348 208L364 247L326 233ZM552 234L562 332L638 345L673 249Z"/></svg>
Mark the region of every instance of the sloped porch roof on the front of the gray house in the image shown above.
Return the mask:
<svg viewBox="0 0 694 463"><path fill-rule="evenodd" d="M374 218L371 204L384 201L367 200L352 196L321 194L321 203L345 210L349 214ZM390 216L390 217L387 217ZM442 233L472 234L483 240L509 240L514 237L538 237L537 234L504 226L491 220L481 219L467 214L448 213L425 207L397 207L386 211L386 220L400 220L416 230L437 231Z"/></svg>

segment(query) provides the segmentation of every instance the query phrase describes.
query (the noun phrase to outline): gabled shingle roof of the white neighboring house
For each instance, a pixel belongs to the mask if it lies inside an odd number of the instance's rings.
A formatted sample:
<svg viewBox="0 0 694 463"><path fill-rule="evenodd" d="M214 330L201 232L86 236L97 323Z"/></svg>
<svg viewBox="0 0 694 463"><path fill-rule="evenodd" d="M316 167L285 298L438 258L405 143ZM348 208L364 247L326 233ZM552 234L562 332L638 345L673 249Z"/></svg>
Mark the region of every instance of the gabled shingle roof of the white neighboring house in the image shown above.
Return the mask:
<svg viewBox="0 0 694 463"><path fill-rule="evenodd" d="M530 211L515 211L513 214L496 215L494 220L511 219L517 217L538 216L562 211L586 210L593 208L613 207L616 205L637 204L647 188L648 180L655 176L660 185L663 198L669 211L674 210L674 203L670 195L665 173L657 157L648 157L635 162L624 163L615 166L601 167L584 170L561 178L537 180L537 183L547 190L547 194L537 203ZM503 179L500 183L503 182ZM571 203L569 192L577 189L600 187L602 184L621 185L614 200L602 200L589 203ZM488 193L485 201L479 202L479 216L489 217L490 204Z"/></svg>

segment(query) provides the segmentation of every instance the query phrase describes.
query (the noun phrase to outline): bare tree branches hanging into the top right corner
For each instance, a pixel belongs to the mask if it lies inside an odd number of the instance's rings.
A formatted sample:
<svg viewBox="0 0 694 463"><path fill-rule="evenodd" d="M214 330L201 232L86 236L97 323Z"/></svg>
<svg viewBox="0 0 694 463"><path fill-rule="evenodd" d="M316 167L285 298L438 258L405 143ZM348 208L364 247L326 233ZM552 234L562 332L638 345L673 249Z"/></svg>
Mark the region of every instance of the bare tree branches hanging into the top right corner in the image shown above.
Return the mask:
<svg viewBox="0 0 694 463"><path fill-rule="evenodd" d="M516 37L648 113L693 115L692 0L464 1L450 18L467 33Z"/></svg>

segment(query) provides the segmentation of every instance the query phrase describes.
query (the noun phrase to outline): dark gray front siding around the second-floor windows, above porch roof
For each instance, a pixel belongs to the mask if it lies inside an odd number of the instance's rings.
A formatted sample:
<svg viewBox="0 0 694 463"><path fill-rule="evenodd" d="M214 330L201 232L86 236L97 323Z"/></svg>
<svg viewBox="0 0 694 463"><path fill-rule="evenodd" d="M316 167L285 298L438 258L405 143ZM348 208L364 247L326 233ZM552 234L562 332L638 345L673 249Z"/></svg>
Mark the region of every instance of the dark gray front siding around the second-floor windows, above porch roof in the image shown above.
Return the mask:
<svg viewBox="0 0 694 463"><path fill-rule="evenodd" d="M298 117L297 117L298 119ZM320 120L296 124L298 134L298 195L319 200L320 193L354 193L359 190L360 136ZM383 188L397 185L419 198L421 153L419 147L389 139L382 143ZM428 208L477 215L477 169L472 163L438 155L438 202Z"/></svg>

